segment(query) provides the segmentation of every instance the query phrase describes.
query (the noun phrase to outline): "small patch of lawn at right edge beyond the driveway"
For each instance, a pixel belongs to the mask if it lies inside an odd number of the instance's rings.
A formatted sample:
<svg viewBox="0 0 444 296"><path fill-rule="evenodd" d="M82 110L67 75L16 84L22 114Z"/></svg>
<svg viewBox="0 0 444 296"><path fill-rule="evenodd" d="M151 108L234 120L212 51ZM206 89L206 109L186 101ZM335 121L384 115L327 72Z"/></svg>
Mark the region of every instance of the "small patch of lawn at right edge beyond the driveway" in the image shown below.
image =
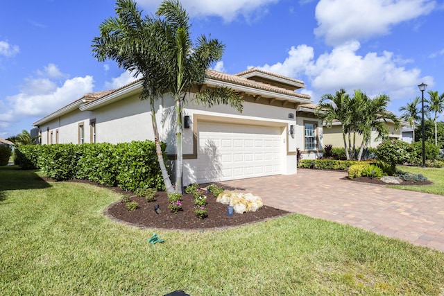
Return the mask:
<svg viewBox="0 0 444 296"><path fill-rule="evenodd" d="M434 184L422 186L390 185L388 187L444 195L444 168L422 168L418 166L398 166L397 168L409 173L422 174Z"/></svg>

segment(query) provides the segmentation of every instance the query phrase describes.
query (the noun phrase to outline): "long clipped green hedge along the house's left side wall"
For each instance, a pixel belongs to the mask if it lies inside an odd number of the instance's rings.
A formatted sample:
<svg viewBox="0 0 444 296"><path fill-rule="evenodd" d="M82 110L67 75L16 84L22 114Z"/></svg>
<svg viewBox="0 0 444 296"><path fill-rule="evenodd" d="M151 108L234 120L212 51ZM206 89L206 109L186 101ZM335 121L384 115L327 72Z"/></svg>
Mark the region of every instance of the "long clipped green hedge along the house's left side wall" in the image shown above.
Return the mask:
<svg viewBox="0 0 444 296"><path fill-rule="evenodd" d="M161 146L165 151L167 145ZM153 141L20 146L16 164L24 169L41 168L57 181L83 179L130 191L164 190Z"/></svg>

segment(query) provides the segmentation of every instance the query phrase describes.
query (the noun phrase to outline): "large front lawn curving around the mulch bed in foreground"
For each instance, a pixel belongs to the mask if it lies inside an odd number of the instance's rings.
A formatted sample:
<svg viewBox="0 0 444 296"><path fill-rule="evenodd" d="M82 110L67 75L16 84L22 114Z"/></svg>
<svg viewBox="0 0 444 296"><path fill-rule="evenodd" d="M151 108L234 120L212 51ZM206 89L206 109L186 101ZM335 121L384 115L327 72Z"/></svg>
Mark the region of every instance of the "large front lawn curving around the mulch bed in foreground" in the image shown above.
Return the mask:
<svg viewBox="0 0 444 296"><path fill-rule="evenodd" d="M115 223L117 193L0 167L2 295L440 295L444 253L291 215L223 231Z"/></svg>

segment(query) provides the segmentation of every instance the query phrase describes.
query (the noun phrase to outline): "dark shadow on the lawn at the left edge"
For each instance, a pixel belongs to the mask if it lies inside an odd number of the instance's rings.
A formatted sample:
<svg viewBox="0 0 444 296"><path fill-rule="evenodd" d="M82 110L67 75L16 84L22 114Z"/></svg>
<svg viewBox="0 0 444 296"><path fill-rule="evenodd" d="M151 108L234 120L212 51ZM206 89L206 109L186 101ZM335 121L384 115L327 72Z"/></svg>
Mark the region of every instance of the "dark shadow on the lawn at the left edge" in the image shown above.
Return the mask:
<svg viewBox="0 0 444 296"><path fill-rule="evenodd" d="M0 200L6 199L4 191L51 187L36 172L37 170L22 170L18 166L0 166Z"/></svg>

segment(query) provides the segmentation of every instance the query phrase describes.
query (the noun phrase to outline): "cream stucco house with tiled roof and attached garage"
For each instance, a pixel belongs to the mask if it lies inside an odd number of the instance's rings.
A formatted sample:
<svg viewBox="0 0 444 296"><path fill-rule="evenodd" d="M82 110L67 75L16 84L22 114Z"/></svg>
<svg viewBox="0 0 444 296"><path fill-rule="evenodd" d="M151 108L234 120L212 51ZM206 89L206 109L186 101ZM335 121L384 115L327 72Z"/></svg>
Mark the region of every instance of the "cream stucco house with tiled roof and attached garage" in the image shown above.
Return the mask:
<svg viewBox="0 0 444 296"><path fill-rule="evenodd" d="M304 82L259 69L230 75L208 70L202 87L225 86L244 98L244 111L227 105L187 105L183 110L183 182L216 182L264 175L295 174L297 149L305 158L322 152L321 122L310 96L296 92ZM85 94L34 125L42 144L119 143L154 139L151 109L141 101L142 82ZM192 90L191 90L192 92ZM192 96L192 94L191 94ZM175 108L165 94L155 105L160 141L176 158ZM174 172L174 170L171 170Z"/></svg>

